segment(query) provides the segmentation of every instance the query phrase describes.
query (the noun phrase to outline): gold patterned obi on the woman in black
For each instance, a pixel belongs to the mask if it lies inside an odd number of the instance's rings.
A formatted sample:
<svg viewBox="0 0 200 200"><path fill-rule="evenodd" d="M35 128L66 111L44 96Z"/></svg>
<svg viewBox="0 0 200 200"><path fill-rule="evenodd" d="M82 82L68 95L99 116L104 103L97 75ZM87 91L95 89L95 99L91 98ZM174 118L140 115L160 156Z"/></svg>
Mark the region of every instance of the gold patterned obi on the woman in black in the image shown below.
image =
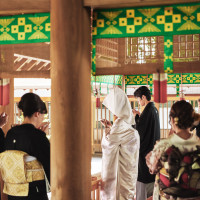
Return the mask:
<svg viewBox="0 0 200 200"><path fill-rule="evenodd" d="M9 150L0 154L3 192L11 196L28 196L29 183L44 180L44 169L38 160L25 162L23 151Z"/></svg>

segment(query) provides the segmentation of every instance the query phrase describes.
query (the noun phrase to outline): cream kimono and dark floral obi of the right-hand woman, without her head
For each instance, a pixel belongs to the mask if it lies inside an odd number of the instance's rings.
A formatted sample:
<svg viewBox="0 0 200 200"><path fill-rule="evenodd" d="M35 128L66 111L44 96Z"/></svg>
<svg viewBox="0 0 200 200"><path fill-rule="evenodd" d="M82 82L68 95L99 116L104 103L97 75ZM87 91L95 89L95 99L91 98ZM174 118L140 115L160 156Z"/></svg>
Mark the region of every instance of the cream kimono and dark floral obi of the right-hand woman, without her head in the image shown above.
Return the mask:
<svg viewBox="0 0 200 200"><path fill-rule="evenodd" d="M173 145L174 148L171 148ZM163 200L174 200L176 196L180 196L179 199L185 198L189 200L189 197L193 197L193 195L200 196L198 183L200 181L200 158L198 146L200 146L200 139L196 135L191 135L190 138L184 140L178 135L172 134L170 137L157 142L153 151L146 157L150 171L154 173L160 172L157 173L153 200L159 200L159 196ZM155 163L158 164L156 165ZM155 169L155 166L157 166L158 170ZM172 187L177 183L181 184L181 187L184 189L180 195L170 195L172 194L170 192L178 191ZM172 187L172 191L163 189L170 187ZM181 187L179 187L180 190ZM192 190L194 189L192 192L189 190L191 188Z"/></svg>

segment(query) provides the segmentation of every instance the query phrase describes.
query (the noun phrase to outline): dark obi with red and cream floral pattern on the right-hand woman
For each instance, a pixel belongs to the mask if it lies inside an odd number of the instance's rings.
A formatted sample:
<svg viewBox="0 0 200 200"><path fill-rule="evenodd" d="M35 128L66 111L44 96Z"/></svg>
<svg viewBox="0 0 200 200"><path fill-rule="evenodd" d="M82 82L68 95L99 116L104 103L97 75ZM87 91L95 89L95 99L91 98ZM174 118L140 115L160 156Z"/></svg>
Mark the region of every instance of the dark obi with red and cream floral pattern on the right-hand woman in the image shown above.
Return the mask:
<svg viewBox="0 0 200 200"><path fill-rule="evenodd" d="M200 196L200 146L182 154L169 147L161 156L163 168L159 171L160 189L168 195L182 198Z"/></svg>

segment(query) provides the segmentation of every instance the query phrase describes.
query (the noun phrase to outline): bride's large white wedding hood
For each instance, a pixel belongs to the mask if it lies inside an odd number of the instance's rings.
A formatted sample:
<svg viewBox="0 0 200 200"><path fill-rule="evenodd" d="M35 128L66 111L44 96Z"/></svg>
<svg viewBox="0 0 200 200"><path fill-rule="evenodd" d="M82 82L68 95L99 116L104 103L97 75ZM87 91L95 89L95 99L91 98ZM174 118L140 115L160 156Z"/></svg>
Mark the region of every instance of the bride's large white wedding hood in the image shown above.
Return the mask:
<svg viewBox="0 0 200 200"><path fill-rule="evenodd" d="M130 125L135 124L131 104L127 95L119 87L115 86L103 101L106 106L114 115L122 119Z"/></svg>

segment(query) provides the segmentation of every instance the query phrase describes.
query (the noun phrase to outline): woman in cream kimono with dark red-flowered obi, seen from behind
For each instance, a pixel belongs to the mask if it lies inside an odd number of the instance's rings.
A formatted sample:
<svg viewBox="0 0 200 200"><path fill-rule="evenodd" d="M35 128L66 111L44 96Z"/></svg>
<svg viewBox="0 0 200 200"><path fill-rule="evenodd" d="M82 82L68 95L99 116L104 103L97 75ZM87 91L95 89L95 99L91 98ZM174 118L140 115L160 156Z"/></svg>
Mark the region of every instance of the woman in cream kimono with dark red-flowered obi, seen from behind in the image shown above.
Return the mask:
<svg viewBox="0 0 200 200"><path fill-rule="evenodd" d="M200 199L200 140L190 132L200 115L184 100L173 104L170 123L174 131L146 156L151 173L156 173L153 200Z"/></svg>

